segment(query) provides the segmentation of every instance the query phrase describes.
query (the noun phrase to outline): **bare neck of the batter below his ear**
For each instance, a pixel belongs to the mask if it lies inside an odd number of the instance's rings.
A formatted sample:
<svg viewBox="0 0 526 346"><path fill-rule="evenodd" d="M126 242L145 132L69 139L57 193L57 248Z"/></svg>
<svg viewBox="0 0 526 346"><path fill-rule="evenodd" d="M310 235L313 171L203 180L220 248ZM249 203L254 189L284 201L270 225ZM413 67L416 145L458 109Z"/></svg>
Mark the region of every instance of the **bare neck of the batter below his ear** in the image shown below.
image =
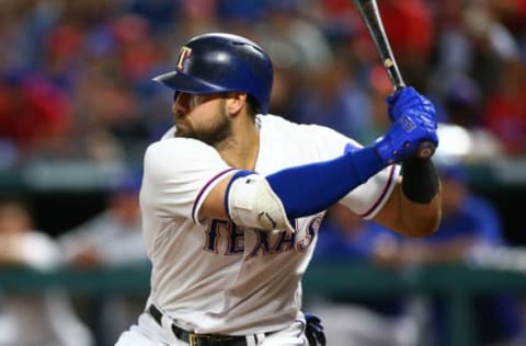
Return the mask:
<svg viewBox="0 0 526 346"><path fill-rule="evenodd" d="M216 146L229 165L253 171L260 150L260 129L252 119L236 122L232 136Z"/></svg>

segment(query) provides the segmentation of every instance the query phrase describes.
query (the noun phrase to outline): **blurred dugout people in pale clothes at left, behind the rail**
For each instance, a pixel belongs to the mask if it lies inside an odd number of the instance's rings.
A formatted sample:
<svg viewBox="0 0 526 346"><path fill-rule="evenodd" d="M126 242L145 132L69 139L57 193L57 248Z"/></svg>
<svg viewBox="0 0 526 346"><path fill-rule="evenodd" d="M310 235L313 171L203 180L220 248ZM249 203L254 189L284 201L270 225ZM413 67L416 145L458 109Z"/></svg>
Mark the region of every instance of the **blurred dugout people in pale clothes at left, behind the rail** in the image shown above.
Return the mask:
<svg viewBox="0 0 526 346"><path fill-rule="evenodd" d="M0 198L0 270L148 268L139 211L140 174L106 191L103 209L59 237L39 229L24 197ZM75 295L48 289L4 290L0 285L0 346L111 346L135 323L147 292Z"/></svg>

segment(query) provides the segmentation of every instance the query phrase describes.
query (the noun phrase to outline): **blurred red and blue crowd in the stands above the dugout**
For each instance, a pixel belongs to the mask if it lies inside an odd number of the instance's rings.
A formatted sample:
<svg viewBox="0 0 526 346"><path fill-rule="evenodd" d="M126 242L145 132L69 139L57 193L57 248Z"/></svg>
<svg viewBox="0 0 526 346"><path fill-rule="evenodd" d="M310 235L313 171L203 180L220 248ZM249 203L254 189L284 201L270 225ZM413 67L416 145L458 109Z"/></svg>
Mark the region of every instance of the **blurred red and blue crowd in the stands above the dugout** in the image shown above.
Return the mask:
<svg viewBox="0 0 526 346"><path fill-rule="evenodd" d="M433 97L441 122L525 154L526 1L379 7L407 83ZM364 142L387 126L392 86L352 1L9 0L0 1L0 168L140 159L171 123L171 97L151 78L208 31L270 53L272 113Z"/></svg>

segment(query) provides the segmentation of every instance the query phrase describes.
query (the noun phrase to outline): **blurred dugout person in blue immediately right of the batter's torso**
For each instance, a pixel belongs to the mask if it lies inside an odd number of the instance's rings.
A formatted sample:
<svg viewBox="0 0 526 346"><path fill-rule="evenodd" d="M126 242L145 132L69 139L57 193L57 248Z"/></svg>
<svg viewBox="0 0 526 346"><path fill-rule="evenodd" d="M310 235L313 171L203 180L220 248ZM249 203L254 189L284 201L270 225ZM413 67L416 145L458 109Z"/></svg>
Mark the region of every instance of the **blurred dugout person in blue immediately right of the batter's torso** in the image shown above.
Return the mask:
<svg viewBox="0 0 526 346"><path fill-rule="evenodd" d="M315 263L370 264L376 227L345 208L332 207L323 220ZM396 295L324 295L307 301L325 328L329 345L418 346L424 320L418 304Z"/></svg>

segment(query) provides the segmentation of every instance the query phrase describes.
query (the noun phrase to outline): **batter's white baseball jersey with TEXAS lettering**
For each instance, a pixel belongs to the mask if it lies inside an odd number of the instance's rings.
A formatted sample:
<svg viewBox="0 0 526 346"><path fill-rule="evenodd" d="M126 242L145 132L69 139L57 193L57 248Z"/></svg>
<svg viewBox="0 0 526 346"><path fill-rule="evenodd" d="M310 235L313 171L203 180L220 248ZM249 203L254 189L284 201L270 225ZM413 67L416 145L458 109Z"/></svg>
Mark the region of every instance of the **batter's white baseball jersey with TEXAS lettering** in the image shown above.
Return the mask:
<svg viewBox="0 0 526 346"><path fill-rule="evenodd" d="M348 143L358 146L325 127L273 115L258 120L255 171L263 175L335 158ZM140 205L152 263L150 301L195 333L243 335L285 327L299 312L300 279L323 214L295 220L295 233L199 220L209 191L235 169L214 148L174 138L173 132L152 143L145 155ZM397 175L398 169L389 166L341 203L371 218L389 197Z"/></svg>

